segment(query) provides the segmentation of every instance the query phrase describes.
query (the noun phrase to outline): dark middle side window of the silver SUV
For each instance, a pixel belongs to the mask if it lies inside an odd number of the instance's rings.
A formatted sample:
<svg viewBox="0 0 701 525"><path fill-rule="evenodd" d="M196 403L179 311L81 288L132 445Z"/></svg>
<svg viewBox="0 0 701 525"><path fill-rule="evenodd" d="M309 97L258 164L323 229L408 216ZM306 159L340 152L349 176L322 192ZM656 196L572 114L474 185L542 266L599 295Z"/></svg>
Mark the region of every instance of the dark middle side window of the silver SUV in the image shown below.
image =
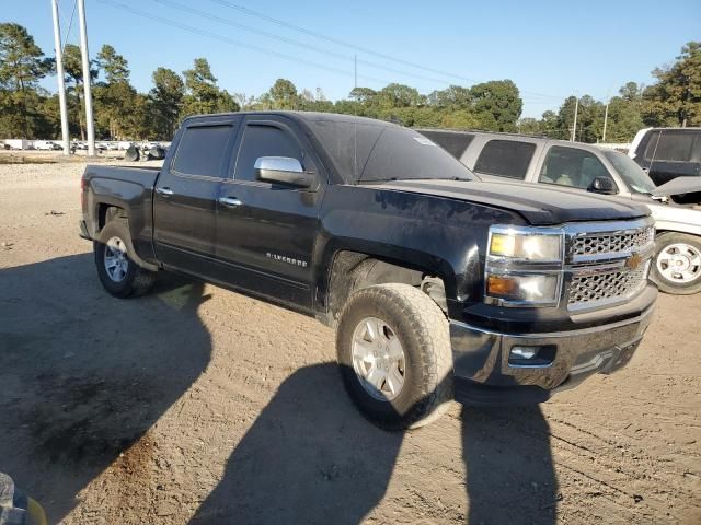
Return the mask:
<svg viewBox="0 0 701 525"><path fill-rule="evenodd" d="M474 164L474 171L485 175L526 178L536 144L515 140L490 140Z"/></svg>

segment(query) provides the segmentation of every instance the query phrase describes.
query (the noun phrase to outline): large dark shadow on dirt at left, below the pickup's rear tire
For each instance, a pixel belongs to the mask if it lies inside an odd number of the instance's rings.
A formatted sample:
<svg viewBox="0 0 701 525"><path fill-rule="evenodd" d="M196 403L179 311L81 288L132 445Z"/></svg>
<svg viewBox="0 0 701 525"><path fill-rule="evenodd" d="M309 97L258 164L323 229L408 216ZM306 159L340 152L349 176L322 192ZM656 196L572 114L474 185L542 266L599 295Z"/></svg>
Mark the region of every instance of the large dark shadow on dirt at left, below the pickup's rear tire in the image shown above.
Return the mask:
<svg viewBox="0 0 701 525"><path fill-rule="evenodd" d="M91 254L0 270L0 470L49 523L205 370L207 299L174 276L148 298L113 299Z"/></svg>

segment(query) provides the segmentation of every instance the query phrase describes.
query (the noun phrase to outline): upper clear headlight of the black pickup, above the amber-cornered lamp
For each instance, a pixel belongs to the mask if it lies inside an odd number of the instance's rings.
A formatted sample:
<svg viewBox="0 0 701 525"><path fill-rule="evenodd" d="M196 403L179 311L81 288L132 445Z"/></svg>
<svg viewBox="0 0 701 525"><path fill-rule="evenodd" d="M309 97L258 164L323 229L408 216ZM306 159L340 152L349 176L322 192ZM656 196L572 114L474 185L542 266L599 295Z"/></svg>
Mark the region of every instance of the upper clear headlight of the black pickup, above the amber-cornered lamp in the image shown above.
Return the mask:
<svg viewBox="0 0 701 525"><path fill-rule="evenodd" d="M562 234L492 232L490 255L533 261L562 259Z"/></svg>

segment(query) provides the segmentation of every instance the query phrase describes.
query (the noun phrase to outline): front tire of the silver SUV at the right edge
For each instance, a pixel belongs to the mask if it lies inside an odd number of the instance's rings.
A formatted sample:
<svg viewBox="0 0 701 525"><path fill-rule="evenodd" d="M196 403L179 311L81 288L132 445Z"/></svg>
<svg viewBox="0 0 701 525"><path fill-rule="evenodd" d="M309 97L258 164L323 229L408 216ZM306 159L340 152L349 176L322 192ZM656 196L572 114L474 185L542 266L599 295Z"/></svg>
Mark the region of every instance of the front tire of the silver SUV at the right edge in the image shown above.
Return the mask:
<svg viewBox="0 0 701 525"><path fill-rule="evenodd" d="M665 275L665 264L663 260L664 257L669 257L669 254L673 254L673 256L674 254L678 254L677 257L682 259L682 266L692 266L686 269L687 273L690 272L690 280L683 278L675 279L673 276L674 272L670 271L667 271L667 275ZM701 255L700 237L678 232L662 233L655 238L655 257L652 261L650 276L657 284L657 288L665 293L675 295L699 293L701 292L701 266L699 266L699 255ZM691 265L689 265L689 262L691 262ZM681 275L679 276L681 277Z"/></svg>

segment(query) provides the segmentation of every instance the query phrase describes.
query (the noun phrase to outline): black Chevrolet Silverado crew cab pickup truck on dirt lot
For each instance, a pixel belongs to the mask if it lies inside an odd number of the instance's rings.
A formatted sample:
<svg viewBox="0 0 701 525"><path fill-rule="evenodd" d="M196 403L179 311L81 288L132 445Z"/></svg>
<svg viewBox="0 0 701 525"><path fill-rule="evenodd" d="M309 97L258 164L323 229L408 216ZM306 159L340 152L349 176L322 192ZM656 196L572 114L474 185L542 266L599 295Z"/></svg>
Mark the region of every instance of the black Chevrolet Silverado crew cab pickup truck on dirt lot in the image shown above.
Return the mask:
<svg viewBox="0 0 701 525"><path fill-rule="evenodd" d="M192 117L162 168L89 165L81 187L81 236L111 294L173 270L315 316L384 428L453 398L544 401L619 369L657 295L646 208L481 182L390 122Z"/></svg>

